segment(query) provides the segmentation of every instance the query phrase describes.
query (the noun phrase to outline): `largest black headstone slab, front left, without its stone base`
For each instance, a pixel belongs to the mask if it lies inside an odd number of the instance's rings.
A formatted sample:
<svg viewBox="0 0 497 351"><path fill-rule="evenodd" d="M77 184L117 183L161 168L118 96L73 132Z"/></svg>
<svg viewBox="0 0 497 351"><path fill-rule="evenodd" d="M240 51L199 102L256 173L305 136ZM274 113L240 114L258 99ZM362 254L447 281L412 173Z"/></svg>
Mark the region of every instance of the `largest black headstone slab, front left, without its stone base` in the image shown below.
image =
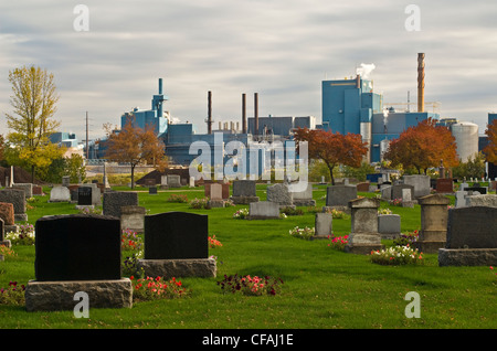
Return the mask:
<svg viewBox="0 0 497 351"><path fill-rule="evenodd" d="M120 221L104 215L44 216L35 224L40 281L120 279Z"/></svg>

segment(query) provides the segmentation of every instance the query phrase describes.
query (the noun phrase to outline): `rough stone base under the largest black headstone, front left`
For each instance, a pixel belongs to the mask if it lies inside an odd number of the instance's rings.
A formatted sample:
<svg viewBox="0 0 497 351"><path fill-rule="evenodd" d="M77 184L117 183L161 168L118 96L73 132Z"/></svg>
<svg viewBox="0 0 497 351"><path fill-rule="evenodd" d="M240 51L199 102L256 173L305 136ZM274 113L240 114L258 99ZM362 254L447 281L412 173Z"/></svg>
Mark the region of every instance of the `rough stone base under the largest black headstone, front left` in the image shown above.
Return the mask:
<svg viewBox="0 0 497 351"><path fill-rule="evenodd" d="M89 308L131 308L133 286L128 278L116 280L30 280L25 288L27 311L74 310L81 299L78 291L88 294Z"/></svg>

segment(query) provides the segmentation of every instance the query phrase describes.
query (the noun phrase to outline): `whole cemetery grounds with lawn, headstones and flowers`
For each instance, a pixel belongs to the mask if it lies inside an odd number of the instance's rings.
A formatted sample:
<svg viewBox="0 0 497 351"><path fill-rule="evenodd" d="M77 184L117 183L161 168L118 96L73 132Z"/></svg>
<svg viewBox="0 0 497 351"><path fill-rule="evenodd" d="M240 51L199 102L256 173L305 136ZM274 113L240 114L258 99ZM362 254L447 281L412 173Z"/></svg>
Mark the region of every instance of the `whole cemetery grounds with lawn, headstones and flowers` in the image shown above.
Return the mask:
<svg viewBox="0 0 497 351"><path fill-rule="evenodd" d="M2 188L0 327L493 329L497 195L478 185Z"/></svg>

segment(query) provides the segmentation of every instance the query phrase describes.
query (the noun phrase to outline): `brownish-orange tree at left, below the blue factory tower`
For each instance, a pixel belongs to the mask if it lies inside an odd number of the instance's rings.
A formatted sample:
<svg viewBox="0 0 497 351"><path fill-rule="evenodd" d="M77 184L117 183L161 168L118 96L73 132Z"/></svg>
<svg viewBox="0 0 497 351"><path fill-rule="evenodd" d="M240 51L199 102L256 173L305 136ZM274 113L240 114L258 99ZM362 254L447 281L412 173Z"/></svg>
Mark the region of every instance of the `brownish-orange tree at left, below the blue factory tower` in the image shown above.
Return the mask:
<svg viewBox="0 0 497 351"><path fill-rule="evenodd" d="M105 127L105 126L104 126ZM161 169L165 167L165 146L152 128L136 128L133 118L128 119L118 132L108 134L108 148L105 157L131 167L131 189L135 188L135 168L148 162Z"/></svg>

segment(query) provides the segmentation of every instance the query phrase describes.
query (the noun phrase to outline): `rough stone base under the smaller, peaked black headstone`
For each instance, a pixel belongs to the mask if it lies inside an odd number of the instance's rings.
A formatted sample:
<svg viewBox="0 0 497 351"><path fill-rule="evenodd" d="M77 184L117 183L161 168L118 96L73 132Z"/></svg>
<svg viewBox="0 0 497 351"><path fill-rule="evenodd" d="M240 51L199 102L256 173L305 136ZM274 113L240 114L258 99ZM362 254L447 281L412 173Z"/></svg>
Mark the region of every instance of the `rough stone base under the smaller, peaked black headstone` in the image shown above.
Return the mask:
<svg viewBox="0 0 497 351"><path fill-rule="evenodd" d="M210 278L215 277L218 270L214 258L138 259L137 267L146 276L163 278Z"/></svg>

